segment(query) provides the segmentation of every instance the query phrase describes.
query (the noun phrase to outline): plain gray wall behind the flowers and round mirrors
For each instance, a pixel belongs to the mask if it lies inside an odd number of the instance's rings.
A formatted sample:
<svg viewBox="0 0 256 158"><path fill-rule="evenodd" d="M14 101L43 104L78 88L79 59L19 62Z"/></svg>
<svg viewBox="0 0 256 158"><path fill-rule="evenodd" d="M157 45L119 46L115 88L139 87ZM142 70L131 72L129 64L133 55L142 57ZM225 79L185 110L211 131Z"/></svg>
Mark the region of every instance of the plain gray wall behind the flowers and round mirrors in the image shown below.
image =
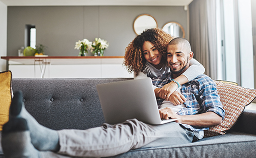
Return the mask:
<svg viewBox="0 0 256 158"><path fill-rule="evenodd" d="M109 42L105 56L122 56L136 36L134 19L144 13L152 15L160 28L167 22L178 22L187 34L187 12L183 7L8 7L7 55L17 56L17 50L24 46L25 25L33 24L36 44L45 45L47 55L77 56L75 42L100 37Z"/></svg>

